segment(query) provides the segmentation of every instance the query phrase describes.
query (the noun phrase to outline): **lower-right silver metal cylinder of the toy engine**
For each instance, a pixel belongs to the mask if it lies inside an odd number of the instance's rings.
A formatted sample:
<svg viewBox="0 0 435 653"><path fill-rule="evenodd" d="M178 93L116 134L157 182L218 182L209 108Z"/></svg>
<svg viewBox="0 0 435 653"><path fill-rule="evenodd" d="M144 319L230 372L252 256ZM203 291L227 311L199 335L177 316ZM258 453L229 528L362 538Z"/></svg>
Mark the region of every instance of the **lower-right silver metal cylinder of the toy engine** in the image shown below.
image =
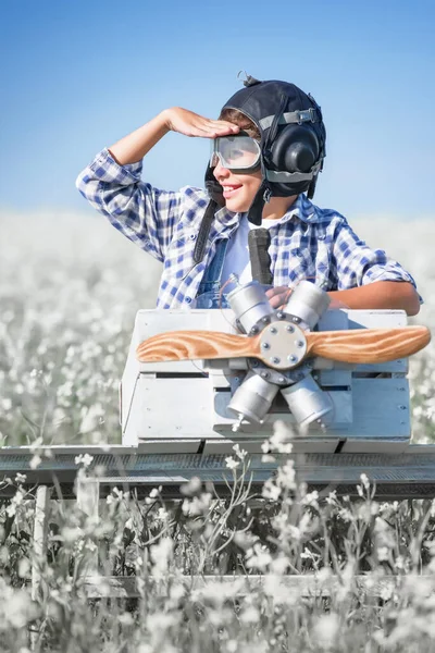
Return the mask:
<svg viewBox="0 0 435 653"><path fill-rule="evenodd" d="M311 374L281 392L300 427L308 427L313 421L326 426L331 421L334 405Z"/></svg>

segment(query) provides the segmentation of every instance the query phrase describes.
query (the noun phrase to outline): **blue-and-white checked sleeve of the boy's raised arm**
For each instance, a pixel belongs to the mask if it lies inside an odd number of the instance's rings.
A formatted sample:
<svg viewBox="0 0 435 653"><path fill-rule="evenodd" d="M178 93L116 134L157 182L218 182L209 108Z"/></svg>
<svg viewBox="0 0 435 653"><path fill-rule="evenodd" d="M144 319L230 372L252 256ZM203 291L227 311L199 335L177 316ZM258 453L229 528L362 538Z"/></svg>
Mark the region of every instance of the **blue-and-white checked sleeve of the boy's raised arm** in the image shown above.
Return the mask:
<svg viewBox="0 0 435 653"><path fill-rule="evenodd" d="M127 238L164 260L174 225L182 214L182 194L154 188L141 180L142 162L120 165L103 149L76 180L89 204Z"/></svg>

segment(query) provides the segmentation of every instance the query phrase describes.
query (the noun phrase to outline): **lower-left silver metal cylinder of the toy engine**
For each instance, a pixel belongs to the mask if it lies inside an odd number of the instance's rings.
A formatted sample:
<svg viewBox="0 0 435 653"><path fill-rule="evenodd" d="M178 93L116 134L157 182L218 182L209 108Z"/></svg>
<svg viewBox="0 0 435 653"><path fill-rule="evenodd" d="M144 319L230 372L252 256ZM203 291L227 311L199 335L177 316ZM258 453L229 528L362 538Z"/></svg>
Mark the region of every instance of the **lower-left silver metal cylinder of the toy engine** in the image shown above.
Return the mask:
<svg viewBox="0 0 435 653"><path fill-rule="evenodd" d="M228 409L237 412L241 419L261 422L268 414L278 386L249 371L239 387L234 393Z"/></svg>

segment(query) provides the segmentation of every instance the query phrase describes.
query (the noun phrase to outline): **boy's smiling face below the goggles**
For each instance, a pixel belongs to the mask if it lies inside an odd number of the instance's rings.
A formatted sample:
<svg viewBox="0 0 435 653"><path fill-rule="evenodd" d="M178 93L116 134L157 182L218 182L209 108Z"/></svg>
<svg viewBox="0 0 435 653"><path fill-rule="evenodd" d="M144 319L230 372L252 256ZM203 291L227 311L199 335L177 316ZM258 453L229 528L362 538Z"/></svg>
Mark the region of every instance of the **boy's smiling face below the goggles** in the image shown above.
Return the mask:
<svg viewBox="0 0 435 653"><path fill-rule="evenodd" d="M228 211L241 213L248 211L257 190L261 186L261 170L246 174L231 172L219 161L213 169L216 181L223 187L225 206Z"/></svg>

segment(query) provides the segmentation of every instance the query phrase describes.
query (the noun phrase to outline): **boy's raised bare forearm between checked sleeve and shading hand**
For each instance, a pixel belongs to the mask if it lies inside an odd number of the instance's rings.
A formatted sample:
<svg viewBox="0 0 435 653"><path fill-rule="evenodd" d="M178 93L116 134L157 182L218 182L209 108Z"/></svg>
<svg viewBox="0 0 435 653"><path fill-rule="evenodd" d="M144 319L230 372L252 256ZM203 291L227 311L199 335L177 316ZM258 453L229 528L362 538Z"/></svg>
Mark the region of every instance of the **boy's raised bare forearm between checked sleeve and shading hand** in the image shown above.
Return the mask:
<svg viewBox="0 0 435 653"><path fill-rule="evenodd" d="M124 138L121 138L121 140L117 140L108 149L120 165L137 163L141 161L169 131L166 112L162 111L159 115L135 132L132 132L132 134L128 134L128 136L124 136Z"/></svg>

